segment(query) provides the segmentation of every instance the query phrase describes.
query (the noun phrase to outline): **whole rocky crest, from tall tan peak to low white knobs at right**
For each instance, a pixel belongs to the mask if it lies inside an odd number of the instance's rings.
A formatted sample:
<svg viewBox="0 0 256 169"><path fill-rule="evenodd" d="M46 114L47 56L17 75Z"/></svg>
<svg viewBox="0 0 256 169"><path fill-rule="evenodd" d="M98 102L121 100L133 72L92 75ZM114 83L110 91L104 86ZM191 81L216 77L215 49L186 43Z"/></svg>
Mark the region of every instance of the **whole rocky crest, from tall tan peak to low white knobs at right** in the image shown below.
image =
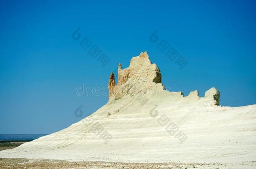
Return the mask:
<svg viewBox="0 0 256 169"><path fill-rule="evenodd" d="M133 96L137 93L151 93L151 96L158 94L167 97L184 97L182 92L165 91L162 84L162 76L158 66L151 62L147 52L141 52L139 56L133 57L128 68L122 69L118 64L118 83L115 85L115 75L110 74L109 99L117 100L125 95ZM219 105L219 91L211 88L205 93L203 99L212 105ZM199 92L191 91L187 98L201 99Z"/></svg>

